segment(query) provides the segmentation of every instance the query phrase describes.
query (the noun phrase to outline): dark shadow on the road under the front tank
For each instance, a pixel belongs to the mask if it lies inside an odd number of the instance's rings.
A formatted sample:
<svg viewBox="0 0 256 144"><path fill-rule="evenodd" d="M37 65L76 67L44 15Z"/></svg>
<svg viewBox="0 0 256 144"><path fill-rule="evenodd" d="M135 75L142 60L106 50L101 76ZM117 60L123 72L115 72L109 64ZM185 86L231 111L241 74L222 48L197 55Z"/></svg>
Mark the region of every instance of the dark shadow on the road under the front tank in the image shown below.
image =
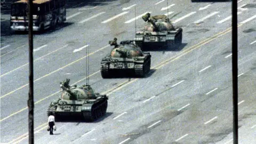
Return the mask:
<svg viewBox="0 0 256 144"><path fill-rule="evenodd" d="M56 117L55 118L55 122L66 122L66 123L98 123L100 121L103 121L103 119L109 117L110 115L112 115L113 113L109 113L107 112L105 115L103 115L102 117L98 118L96 121L94 122L86 122L84 121L82 116L66 116L66 117ZM78 125L78 124L77 124Z"/></svg>

